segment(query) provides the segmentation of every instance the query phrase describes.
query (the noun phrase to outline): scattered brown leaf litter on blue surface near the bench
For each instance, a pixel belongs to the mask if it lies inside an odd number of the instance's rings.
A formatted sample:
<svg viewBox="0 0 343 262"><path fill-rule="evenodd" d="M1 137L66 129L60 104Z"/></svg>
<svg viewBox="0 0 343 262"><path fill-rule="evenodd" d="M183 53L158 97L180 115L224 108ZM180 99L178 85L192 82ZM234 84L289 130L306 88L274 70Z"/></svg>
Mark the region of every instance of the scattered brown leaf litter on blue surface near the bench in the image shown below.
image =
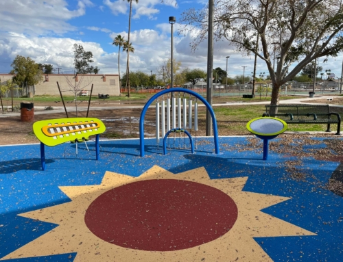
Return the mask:
<svg viewBox="0 0 343 262"><path fill-rule="evenodd" d="M316 138L314 138L316 137ZM316 176L311 175L302 168L304 159L316 159L320 161L340 161L340 166L335 170L325 189L343 197L343 137L334 135L333 133L284 133L279 135L277 140L270 140L270 152L281 154L285 157L296 157L297 160L283 161L279 163L281 167L285 167L287 176L290 179L297 181L306 181L307 178L319 181ZM323 146L323 143L325 146ZM262 140L257 137L248 138L247 144L235 144L226 148L227 150L252 151L261 152ZM313 182L311 182L313 183Z"/></svg>

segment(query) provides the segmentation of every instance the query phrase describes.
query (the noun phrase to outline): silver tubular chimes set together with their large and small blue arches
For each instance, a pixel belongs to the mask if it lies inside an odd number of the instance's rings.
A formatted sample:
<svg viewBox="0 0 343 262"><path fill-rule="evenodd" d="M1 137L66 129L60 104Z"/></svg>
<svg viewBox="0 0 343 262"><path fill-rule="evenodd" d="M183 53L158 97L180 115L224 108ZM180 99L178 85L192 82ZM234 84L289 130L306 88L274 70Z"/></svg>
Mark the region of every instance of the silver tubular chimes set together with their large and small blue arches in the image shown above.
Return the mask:
<svg viewBox="0 0 343 262"><path fill-rule="evenodd" d="M169 94L170 93L170 94ZM176 94L176 95L175 95ZM189 97L186 96L189 94ZM161 103L158 98L161 97ZM166 97L165 97L166 96ZM219 142L218 142L218 131L217 131L217 120L211 105L202 97L200 94L193 92L192 90L183 88L171 88L158 92L152 96L149 101L143 107L141 112L141 118L139 119L139 143L141 150L141 157L144 157L144 118L147 109L156 100L156 142L159 144L160 137L163 137L163 152L167 153L167 136L170 133L174 133L174 148L176 142L176 133L185 133L188 135L191 148L193 148L193 140L189 131L198 131L198 99L204 103L209 109L209 113L212 118L213 125L213 138L215 144L215 153L219 154ZM176 103L177 101L177 103ZM193 113L193 101L194 101L194 113ZM160 116L161 109L161 116ZM188 123L187 123L188 119ZM161 123L161 125L160 125ZM193 125L194 124L194 125ZM161 130L160 130L161 127ZM189 129L189 131L187 131ZM161 135L161 136L160 136ZM169 144L170 145L170 144ZM180 144L179 144L180 146ZM194 152L193 149L192 153Z"/></svg>

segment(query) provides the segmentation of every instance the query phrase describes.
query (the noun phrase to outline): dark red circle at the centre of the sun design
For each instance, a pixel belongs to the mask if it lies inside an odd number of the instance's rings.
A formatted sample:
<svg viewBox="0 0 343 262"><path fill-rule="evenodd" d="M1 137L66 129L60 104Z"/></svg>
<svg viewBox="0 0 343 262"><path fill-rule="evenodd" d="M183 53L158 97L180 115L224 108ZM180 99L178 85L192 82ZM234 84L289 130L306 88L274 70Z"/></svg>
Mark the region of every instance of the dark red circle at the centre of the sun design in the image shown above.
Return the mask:
<svg viewBox="0 0 343 262"><path fill-rule="evenodd" d="M224 192L184 180L137 181L96 198L84 217L89 230L124 248L192 248L227 233L237 205Z"/></svg>

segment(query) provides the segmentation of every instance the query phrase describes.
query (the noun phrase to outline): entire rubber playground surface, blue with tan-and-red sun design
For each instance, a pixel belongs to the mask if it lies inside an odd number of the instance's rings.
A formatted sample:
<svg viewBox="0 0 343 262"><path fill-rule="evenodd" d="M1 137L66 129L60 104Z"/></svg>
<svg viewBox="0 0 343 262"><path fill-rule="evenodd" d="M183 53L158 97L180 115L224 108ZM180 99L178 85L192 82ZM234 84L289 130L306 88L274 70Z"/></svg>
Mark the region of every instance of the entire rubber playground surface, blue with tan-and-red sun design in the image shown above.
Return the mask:
<svg viewBox="0 0 343 262"><path fill-rule="evenodd" d="M341 260L340 136L156 138L0 146L0 260Z"/></svg>

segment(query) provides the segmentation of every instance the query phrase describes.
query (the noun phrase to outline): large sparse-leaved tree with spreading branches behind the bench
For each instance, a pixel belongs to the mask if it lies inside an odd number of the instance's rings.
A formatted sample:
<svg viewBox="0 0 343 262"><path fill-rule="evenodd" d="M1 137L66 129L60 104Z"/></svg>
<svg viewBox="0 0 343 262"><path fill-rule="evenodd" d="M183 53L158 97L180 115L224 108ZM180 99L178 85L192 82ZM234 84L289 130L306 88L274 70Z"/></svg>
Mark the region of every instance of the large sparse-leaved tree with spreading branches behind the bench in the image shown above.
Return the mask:
<svg viewBox="0 0 343 262"><path fill-rule="evenodd" d="M180 34L198 32L193 49L207 36L206 8L182 13L185 27ZM271 104L279 103L281 86L307 64L337 56L343 49L341 0L217 0L214 16L216 40L230 41L241 53L255 53L268 66ZM259 49L255 49L257 35Z"/></svg>

